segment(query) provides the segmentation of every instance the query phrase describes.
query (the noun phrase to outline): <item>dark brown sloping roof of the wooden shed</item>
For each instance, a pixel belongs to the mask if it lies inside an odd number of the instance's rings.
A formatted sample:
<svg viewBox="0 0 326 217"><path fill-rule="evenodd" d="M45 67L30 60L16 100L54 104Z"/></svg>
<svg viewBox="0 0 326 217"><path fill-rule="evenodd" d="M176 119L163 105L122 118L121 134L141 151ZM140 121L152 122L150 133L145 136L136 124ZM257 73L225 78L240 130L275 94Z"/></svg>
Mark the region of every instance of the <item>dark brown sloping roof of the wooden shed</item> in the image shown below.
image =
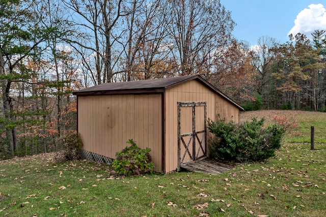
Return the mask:
<svg viewBox="0 0 326 217"><path fill-rule="evenodd" d="M85 89L74 91L73 94L77 96L89 96L89 95L110 95L110 94L141 94L149 92L164 92L165 89L172 88L179 84L185 83L191 80L198 80L205 86L219 94L224 99L228 100L240 110L243 108L233 101L231 98L223 94L221 90L216 88L214 85L209 83L207 80L202 78L200 75L188 75L171 78L159 78L151 80L140 80L140 81L127 81L127 82L116 82L116 83L103 83L88 87Z"/></svg>

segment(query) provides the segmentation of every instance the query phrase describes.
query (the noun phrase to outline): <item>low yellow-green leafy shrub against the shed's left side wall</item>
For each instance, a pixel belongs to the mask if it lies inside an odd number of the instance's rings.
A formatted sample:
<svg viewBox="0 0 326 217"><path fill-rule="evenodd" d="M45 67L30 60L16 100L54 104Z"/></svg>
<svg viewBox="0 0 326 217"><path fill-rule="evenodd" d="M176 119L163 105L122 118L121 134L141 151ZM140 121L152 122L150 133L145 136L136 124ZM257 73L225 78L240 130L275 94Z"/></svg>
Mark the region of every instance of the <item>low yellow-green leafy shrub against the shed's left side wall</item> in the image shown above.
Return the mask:
<svg viewBox="0 0 326 217"><path fill-rule="evenodd" d="M127 143L131 144L122 151L116 153L116 160L112 163L114 172L119 175L140 175L152 173L154 163L151 161L150 148L141 149L130 139Z"/></svg>

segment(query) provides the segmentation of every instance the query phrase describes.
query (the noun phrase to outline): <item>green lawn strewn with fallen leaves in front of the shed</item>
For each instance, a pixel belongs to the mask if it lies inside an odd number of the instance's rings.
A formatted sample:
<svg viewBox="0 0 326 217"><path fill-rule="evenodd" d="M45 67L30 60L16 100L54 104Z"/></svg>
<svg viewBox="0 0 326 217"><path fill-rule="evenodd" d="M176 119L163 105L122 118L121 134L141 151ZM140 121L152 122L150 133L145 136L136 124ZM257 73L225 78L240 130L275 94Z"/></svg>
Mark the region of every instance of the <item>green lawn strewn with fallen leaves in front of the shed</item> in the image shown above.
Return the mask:
<svg viewBox="0 0 326 217"><path fill-rule="evenodd" d="M326 149L286 142L220 175L115 177L57 153L0 161L0 216L326 216Z"/></svg>

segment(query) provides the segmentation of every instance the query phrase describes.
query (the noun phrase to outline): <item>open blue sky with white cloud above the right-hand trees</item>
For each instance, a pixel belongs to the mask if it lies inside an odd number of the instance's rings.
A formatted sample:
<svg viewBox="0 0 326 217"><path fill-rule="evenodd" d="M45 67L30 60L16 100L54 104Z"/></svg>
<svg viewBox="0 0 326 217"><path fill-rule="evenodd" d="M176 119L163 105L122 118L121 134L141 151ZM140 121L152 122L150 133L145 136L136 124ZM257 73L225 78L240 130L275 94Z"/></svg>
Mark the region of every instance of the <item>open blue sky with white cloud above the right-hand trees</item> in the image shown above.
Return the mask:
<svg viewBox="0 0 326 217"><path fill-rule="evenodd" d="M233 35L238 40L257 44L259 37L289 41L288 35L311 37L315 29L326 30L326 0L220 0L231 12Z"/></svg>

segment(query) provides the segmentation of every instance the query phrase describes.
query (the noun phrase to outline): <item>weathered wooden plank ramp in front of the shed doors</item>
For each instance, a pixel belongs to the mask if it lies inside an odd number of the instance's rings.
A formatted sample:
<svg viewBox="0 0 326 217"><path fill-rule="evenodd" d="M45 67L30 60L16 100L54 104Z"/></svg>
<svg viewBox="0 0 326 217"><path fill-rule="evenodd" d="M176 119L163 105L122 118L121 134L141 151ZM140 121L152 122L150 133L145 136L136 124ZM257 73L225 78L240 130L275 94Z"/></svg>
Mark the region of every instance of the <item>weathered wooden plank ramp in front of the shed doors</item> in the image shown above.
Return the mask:
<svg viewBox="0 0 326 217"><path fill-rule="evenodd" d="M191 171L191 172L200 172L211 175L218 175L229 170L232 170L234 167L226 164L222 164L216 161L213 161L209 158L202 160L193 161L180 166L182 169Z"/></svg>

